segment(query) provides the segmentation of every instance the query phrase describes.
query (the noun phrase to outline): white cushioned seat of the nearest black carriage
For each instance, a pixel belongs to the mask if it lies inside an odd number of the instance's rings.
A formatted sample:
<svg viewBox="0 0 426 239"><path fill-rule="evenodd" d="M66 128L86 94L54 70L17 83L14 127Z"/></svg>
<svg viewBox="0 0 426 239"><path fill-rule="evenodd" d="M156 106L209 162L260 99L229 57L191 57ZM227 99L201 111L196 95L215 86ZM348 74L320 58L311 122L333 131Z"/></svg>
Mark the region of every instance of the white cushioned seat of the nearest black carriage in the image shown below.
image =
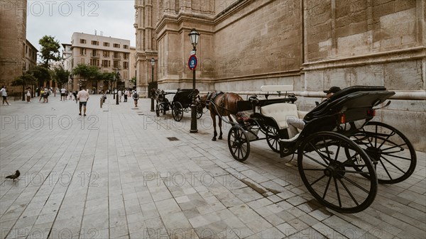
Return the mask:
<svg viewBox="0 0 426 239"><path fill-rule="evenodd" d="M299 118L297 106L289 103L270 104L261 107L263 116L272 117L278 123L280 130L288 128L287 119L290 117Z"/></svg>

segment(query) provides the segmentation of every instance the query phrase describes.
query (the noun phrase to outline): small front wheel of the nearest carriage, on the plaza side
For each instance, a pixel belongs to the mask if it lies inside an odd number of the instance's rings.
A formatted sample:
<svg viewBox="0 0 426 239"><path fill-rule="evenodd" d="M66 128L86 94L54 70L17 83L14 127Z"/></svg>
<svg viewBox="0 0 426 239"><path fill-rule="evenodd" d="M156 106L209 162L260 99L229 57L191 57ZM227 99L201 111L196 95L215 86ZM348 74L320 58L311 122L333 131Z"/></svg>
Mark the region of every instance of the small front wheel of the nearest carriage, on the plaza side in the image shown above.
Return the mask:
<svg viewBox="0 0 426 239"><path fill-rule="evenodd" d="M250 141L246 130L241 126L232 126L228 133L228 148L232 157L243 162L250 155Z"/></svg>

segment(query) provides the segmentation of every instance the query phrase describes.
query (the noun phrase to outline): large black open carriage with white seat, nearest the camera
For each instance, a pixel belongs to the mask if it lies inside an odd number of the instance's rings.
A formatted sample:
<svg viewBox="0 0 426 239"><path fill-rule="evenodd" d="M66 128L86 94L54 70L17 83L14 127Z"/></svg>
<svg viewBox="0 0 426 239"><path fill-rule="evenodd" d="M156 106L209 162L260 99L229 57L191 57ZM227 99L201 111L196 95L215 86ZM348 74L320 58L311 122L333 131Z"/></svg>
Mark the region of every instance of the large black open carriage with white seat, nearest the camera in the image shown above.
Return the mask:
<svg viewBox="0 0 426 239"><path fill-rule="evenodd" d="M376 197L378 183L402 182L415 170L417 157L408 138L386 123L371 121L393 94L384 87L343 89L307 113L305 127L292 138L282 111L296 109L295 104L261 106L260 113L233 123L229 150L236 160L246 160L260 129L281 157L297 153L300 177L321 204L343 213L363 211Z"/></svg>

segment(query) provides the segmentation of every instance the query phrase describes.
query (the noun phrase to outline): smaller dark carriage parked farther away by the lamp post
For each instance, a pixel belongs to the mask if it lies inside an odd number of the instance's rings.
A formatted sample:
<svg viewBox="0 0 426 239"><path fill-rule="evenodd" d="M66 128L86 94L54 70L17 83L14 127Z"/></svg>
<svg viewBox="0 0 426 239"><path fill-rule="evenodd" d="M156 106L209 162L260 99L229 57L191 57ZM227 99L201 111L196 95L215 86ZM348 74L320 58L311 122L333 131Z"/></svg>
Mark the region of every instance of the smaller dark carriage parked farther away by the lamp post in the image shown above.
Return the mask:
<svg viewBox="0 0 426 239"><path fill-rule="evenodd" d="M173 96L173 101L167 99L166 95L175 94ZM201 118L203 106L200 102L200 96L198 96L198 91L195 98L195 109L197 109L197 118ZM189 112L190 106L192 104L192 89L178 89L177 91L163 91L158 90L156 94L157 104L155 105L155 113L157 116L160 116L160 112L165 114L166 111L172 110L172 116L175 121L181 121L183 117L183 112Z"/></svg>

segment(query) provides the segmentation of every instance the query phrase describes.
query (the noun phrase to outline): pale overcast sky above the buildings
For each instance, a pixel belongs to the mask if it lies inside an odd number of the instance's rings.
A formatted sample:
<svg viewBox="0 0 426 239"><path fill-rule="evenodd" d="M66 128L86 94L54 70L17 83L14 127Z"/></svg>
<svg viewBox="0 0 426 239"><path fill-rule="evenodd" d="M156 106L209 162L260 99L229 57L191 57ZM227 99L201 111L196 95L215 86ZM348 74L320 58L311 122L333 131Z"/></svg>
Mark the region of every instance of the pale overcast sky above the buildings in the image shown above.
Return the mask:
<svg viewBox="0 0 426 239"><path fill-rule="evenodd" d="M40 50L38 40L51 35L60 44L71 43L72 33L88 33L130 40L136 46L134 0L28 0L27 39ZM62 50L61 50L62 51Z"/></svg>

